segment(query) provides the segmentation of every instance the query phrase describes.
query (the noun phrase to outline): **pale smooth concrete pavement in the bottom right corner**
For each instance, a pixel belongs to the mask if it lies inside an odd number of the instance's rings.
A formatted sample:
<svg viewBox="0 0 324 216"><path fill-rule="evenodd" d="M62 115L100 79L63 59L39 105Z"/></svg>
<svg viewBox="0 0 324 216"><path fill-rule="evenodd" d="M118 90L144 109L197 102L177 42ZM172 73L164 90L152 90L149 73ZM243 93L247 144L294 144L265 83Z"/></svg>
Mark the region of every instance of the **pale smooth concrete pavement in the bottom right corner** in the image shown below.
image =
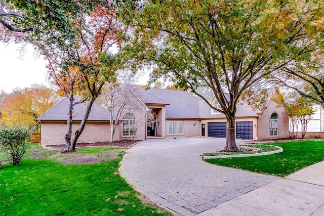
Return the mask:
<svg viewBox="0 0 324 216"><path fill-rule="evenodd" d="M324 161L198 215L324 215Z"/></svg>

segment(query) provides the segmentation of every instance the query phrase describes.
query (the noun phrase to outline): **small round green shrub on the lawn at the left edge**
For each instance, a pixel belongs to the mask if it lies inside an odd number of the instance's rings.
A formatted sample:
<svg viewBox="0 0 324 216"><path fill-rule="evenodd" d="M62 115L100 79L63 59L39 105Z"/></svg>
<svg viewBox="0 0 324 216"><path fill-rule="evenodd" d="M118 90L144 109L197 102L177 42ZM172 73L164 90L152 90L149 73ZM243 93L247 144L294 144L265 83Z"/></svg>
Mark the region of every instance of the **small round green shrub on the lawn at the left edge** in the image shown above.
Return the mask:
<svg viewBox="0 0 324 216"><path fill-rule="evenodd" d="M0 128L0 148L12 159L13 165L18 165L30 147L29 136L30 133L23 127L3 126Z"/></svg>

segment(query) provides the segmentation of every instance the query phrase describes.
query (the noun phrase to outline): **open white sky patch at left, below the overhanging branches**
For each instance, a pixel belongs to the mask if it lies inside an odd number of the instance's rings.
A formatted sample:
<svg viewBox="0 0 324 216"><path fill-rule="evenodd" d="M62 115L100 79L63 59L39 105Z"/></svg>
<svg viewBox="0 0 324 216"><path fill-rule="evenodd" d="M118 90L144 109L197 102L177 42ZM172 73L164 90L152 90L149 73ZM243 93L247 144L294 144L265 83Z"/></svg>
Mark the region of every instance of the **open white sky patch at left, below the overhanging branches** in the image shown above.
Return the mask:
<svg viewBox="0 0 324 216"><path fill-rule="evenodd" d="M31 87L32 84L45 84L47 80L47 61L43 57L35 58L32 46L27 45L20 58L22 44L13 42L4 44L0 41L0 92L11 93L13 89Z"/></svg>

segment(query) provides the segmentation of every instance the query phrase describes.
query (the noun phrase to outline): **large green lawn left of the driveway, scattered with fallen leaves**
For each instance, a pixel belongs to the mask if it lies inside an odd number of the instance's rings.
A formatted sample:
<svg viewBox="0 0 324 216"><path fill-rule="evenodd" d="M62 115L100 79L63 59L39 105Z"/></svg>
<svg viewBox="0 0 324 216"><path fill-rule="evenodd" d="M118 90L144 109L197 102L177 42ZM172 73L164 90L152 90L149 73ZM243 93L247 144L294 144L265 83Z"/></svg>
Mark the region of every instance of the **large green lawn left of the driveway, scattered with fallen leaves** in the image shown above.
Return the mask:
<svg viewBox="0 0 324 216"><path fill-rule="evenodd" d="M85 151L97 154L98 148L94 149ZM142 204L138 192L117 174L121 157L83 165L63 165L53 159L25 159L18 166L5 164L0 169L0 212L2 215L170 215Z"/></svg>

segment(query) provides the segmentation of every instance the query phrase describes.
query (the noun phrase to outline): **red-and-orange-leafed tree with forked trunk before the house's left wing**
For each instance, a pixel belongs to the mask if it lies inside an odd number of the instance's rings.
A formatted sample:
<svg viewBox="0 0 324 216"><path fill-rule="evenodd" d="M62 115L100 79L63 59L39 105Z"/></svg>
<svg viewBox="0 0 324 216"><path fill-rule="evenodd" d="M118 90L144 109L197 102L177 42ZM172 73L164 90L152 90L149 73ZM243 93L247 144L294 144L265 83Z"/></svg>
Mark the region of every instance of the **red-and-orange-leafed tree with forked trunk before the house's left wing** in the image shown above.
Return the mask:
<svg viewBox="0 0 324 216"><path fill-rule="evenodd" d="M121 46L121 31L127 28L113 17L114 9L98 7L90 16L80 14L72 26L73 39L68 46L42 49L50 64L53 83L68 98L67 125L64 152L75 151L78 137L82 134L91 107L101 94L105 82L115 82L114 72L119 68L118 52ZM63 49L62 49L63 48ZM116 53L117 52L117 53ZM75 101L74 94L82 95L82 101ZM78 103L87 101L85 115L72 136L72 110Z"/></svg>

